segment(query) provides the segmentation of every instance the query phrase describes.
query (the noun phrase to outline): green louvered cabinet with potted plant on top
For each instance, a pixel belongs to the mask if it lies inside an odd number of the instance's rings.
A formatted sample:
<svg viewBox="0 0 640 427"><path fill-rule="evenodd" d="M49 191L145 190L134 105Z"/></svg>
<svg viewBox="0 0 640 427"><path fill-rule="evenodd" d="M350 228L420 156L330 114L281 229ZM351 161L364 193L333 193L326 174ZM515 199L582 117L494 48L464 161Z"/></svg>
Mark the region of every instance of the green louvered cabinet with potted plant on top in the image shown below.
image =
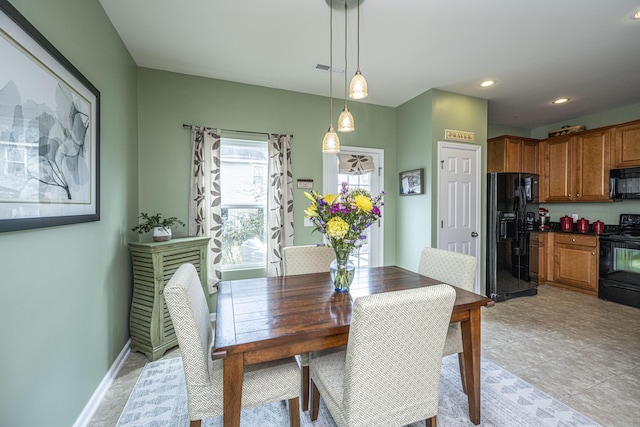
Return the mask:
<svg viewBox="0 0 640 427"><path fill-rule="evenodd" d="M178 345L173 323L164 301L164 287L183 263L191 263L207 289L207 244L209 237L176 238L167 242L131 242L133 298L129 314L131 351L156 360Z"/></svg>

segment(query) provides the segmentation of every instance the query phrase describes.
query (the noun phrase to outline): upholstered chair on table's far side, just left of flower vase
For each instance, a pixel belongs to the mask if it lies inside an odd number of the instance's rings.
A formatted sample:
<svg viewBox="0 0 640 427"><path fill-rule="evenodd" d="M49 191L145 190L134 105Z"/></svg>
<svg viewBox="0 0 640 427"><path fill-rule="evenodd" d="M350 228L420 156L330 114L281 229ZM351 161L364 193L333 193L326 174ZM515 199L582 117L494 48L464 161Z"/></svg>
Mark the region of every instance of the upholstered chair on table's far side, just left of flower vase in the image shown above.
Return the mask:
<svg viewBox="0 0 640 427"><path fill-rule="evenodd" d="M322 273L329 271L329 265L336 254L329 246L302 245L287 246L282 249L284 275ZM309 353L299 354L296 360L302 371L301 395L303 410L309 409Z"/></svg>

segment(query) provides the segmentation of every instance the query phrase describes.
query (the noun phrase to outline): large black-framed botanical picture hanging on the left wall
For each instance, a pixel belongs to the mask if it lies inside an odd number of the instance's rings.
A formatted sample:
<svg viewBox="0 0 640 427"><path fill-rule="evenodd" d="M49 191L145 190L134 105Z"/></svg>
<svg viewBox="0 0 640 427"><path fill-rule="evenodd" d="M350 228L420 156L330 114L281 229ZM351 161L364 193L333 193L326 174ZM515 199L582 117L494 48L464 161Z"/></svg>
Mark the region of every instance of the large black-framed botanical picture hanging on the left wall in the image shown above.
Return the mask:
<svg viewBox="0 0 640 427"><path fill-rule="evenodd" d="M0 232L100 220L100 92L0 0Z"/></svg>

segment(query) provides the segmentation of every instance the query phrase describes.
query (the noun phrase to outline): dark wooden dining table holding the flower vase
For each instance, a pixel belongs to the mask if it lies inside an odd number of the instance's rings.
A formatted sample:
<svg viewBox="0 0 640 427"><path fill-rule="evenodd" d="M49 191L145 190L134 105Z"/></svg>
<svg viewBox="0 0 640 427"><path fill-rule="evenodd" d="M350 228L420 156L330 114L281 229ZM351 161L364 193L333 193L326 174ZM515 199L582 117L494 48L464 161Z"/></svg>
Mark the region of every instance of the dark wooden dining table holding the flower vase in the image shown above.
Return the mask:
<svg viewBox="0 0 640 427"><path fill-rule="evenodd" d="M211 357L224 359L224 426L240 425L245 365L345 345L354 299L438 283L395 266L358 269L347 293L334 291L328 272L220 282ZM480 308L493 301L454 289L451 322L461 324L469 419L479 424Z"/></svg>

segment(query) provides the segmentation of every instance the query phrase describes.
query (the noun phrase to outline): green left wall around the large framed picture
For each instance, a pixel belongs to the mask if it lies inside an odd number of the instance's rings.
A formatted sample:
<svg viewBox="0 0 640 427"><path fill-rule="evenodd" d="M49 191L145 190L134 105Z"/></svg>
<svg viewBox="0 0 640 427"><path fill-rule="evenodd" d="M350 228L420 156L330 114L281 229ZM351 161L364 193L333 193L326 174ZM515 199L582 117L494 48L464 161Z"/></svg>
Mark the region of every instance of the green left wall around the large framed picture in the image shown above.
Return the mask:
<svg viewBox="0 0 640 427"><path fill-rule="evenodd" d="M129 338L136 68L98 0L11 3L101 92L100 221L0 234L0 425L70 426Z"/></svg>

